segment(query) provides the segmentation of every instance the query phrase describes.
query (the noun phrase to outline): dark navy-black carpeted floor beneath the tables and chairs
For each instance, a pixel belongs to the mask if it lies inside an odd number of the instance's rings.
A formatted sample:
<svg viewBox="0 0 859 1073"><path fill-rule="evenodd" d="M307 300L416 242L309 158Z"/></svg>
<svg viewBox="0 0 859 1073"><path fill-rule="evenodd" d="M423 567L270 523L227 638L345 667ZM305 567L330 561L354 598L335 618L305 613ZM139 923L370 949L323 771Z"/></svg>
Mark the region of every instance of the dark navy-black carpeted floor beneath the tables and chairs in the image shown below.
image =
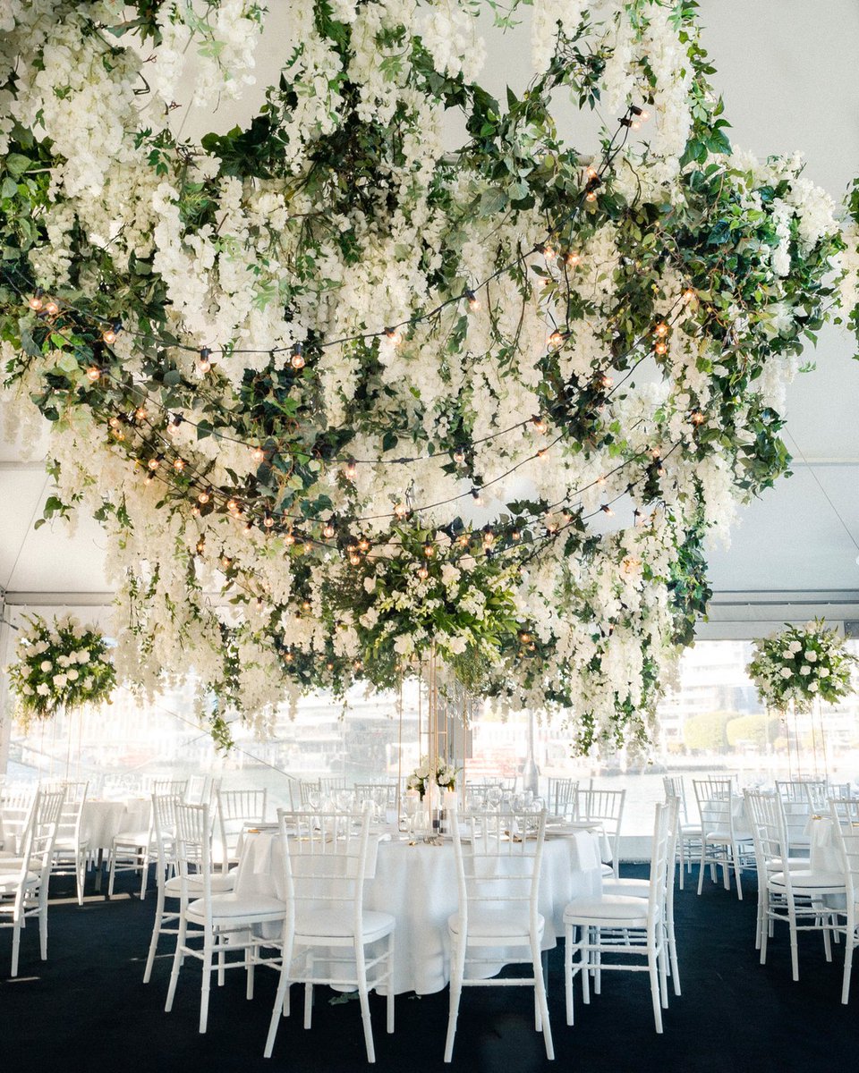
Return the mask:
<svg viewBox="0 0 859 1073"><path fill-rule="evenodd" d="M638 868L627 871L642 874ZM332 993L323 988L309 1031L301 1024L301 989L293 988L293 1015L281 1021L274 1057L262 1058L274 998L272 972L258 972L252 1002L244 997L244 974L228 973L227 985L213 989L208 1032L200 1035L196 966L186 966L174 1010L163 1011L169 940L151 983L141 983L155 898L148 895L141 903L125 893L106 901L88 893L79 908L69 884L53 881L46 962L39 959L38 929L28 925L19 975L10 979L11 932L0 930L3 1073L339 1073L366 1068L358 1003L331 1003ZM795 984L786 929L780 929L769 964L760 966L754 950L754 882L747 886L742 902L709 882L700 898L691 884L678 893L683 995L671 995L661 1037L653 1028L646 974L603 974L602 995L589 1006L582 1004L577 981L576 1026L567 1028L557 949L550 956L549 983L554 1064L545 1061L542 1039L534 1031L530 993L478 988L464 995L450 1067L441 1061L447 991L399 996L394 1035L385 1034L384 1003L374 997L376 1068L380 1073L447 1068L468 1073L859 1069L859 980L850 1004L843 1006L843 945L828 965L819 935L801 937L800 981Z"/></svg>

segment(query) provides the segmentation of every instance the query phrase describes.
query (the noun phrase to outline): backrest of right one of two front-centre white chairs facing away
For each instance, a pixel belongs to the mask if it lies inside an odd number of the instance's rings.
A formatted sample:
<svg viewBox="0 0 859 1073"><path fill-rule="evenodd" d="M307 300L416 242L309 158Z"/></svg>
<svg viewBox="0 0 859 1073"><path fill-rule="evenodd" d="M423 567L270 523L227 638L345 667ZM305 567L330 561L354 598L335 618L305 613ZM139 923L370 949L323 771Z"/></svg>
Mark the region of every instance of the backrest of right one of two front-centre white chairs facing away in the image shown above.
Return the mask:
<svg viewBox="0 0 859 1073"><path fill-rule="evenodd" d="M527 909L529 925L536 929L545 814L545 809L451 811L463 932L467 934L469 916L510 908Z"/></svg>

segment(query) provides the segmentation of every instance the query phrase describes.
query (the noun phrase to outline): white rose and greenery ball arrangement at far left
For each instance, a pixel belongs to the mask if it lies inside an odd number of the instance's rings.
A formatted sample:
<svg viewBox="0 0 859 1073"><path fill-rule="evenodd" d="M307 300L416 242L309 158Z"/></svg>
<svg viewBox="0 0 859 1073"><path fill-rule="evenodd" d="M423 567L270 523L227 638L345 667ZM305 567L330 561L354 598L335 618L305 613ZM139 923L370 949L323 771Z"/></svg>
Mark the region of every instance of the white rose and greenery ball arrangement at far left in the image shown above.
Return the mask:
<svg viewBox="0 0 859 1073"><path fill-rule="evenodd" d="M27 619L15 647L9 677L17 699L18 717L50 719L61 708L77 708L110 697L116 672L103 635L82 626L71 615L47 622L40 615Z"/></svg>

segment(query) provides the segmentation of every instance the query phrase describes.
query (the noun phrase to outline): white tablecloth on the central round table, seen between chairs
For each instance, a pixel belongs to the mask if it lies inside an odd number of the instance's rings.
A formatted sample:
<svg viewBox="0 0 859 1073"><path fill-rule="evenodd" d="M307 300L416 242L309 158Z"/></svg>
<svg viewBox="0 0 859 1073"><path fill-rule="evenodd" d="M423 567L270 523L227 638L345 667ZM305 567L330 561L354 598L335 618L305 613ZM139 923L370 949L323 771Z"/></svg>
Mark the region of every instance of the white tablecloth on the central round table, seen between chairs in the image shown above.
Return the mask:
<svg viewBox="0 0 859 1073"><path fill-rule="evenodd" d="M540 877L544 950L551 950L564 935L567 902L601 893L600 850L599 835L587 831L547 837ZM279 857L277 836L265 832L247 835L236 891L282 897ZM453 844L409 846L398 838L381 841L375 874L364 890L364 908L391 913L396 920L394 994L440 991L450 980L448 917L457 910Z"/></svg>

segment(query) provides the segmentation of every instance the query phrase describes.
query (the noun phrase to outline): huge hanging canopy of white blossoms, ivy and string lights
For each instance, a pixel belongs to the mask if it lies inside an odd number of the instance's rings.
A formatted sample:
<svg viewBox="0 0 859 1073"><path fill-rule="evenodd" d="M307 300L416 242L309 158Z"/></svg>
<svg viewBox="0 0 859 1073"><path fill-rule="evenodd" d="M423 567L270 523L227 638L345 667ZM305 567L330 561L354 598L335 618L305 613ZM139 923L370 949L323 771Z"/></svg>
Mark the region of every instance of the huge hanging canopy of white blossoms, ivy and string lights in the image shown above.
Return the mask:
<svg viewBox="0 0 859 1073"><path fill-rule="evenodd" d="M5 380L46 516L111 534L118 673L192 662L224 743L434 650L580 750L646 743L704 536L787 469L848 300L833 203L732 149L691 0L535 0L504 101L477 3L285 6L259 115L192 144L188 57L195 103L238 94L260 4L4 5Z"/></svg>

